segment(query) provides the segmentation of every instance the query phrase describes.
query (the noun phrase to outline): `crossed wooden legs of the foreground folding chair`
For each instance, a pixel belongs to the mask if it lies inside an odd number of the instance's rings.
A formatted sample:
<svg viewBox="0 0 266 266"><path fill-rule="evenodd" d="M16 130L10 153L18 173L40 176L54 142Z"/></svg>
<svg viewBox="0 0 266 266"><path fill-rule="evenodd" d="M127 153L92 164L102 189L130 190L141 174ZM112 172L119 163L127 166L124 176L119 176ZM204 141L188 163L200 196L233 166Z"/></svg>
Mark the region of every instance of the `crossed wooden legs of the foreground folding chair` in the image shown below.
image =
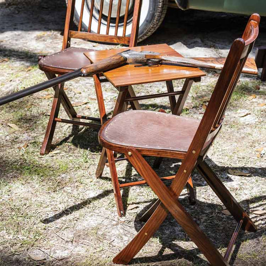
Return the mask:
<svg viewBox="0 0 266 266"><path fill-rule="evenodd" d="M203 161L202 158L200 158L197 162L197 168L200 174L231 212L234 219L238 222L238 226L235 230L236 234L233 234L229 248L223 257L178 201L178 197L188 181L187 178L176 176L171 186L167 188L159 176L135 148L128 147L126 156L138 173L147 181L148 185L156 193L161 202L133 240L113 259L114 263L128 264L159 229L160 225L166 219L168 212L173 215L188 236L199 247L199 250L203 253L207 260L215 266L229 265L227 259L229 258L233 242L235 241L240 228L251 232L256 231L256 226L251 221L247 213L233 198L231 193L227 190L211 168ZM191 173L189 173L189 176L190 174Z"/></svg>

